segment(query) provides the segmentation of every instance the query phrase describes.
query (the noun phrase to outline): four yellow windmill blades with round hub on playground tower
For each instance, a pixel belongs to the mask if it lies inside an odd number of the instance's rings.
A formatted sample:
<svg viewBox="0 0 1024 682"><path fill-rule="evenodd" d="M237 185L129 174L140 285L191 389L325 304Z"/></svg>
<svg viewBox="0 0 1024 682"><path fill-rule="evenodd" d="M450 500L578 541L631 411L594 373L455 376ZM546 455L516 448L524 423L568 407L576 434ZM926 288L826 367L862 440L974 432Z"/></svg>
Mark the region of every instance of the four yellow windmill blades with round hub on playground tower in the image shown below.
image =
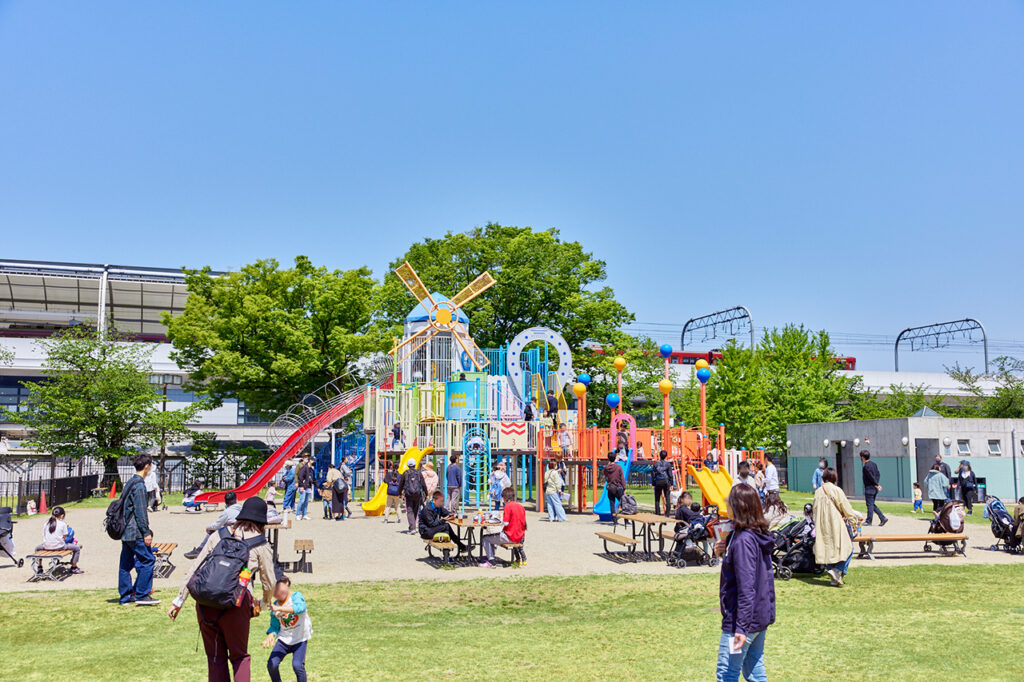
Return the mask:
<svg viewBox="0 0 1024 682"><path fill-rule="evenodd" d="M416 300L420 302L427 311L427 326L421 329L416 334L413 334L404 341L399 343L391 350L394 355L398 354L398 351L403 346L409 346L414 341L416 343L404 351L404 354L400 359L396 359L396 365L401 365L407 358L412 356L417 350L419 350L427 341L434 338L438 334L450 333L453 338L462 346L462 349L466 351L466 355L469 356L476 369L483 371L483 368L487 367L489 363L487 361L486 355L483 351L476 345L473 339L469 336L469 331L462 326L459 322L456 311L464 306L465 304L472 301L474 298L490 289L495 286L496 282L489 272L484 272L480 276L476 278L470 282L466 287L455 295L455 298L447 301L435 301L427 291L427 288L423 286L423 282L420 276L413 269L413 266L406 261L394 271L401 280L402 284L409 291L413 292L413 296Z"/></svg>

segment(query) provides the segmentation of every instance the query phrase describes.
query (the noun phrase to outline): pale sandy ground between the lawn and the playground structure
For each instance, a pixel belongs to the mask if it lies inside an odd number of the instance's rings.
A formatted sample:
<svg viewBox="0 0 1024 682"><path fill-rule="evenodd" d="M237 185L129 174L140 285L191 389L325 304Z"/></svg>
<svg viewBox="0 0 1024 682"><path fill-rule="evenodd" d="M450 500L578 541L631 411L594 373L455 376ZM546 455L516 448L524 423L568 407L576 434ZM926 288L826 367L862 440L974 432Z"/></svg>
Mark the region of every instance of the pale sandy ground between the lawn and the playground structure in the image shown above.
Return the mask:
<svg viewBox="0 0 1024 682"><path fill-rule="evenodd" d="M856 505L855 505L856 506ZM357 509L353 505L353 510ZM318 514L317 504L310 511ZM979 510L980 513L980 510ZM683 570L670 568L662 562L640 562L620 564L601 555L600 540L595 530L608 530L608 524L598 523L590 514L570 515L565 523L549 523L527 508L528 530L526 534L527 567L521 570L511 568L479 568L476 565L459 567L455 570L439 570L427 563L423 543L418 536L400 532L404 523L385 524L380 517L357 515L346 521L327 521L314 518L309 521L293 521L292 528L281 531L281 558L295 558L292 550L295 539L312 539L315 550L311 555L313 572L297 574L297 584L335 583L340 581L387 581L387 580L465 580L477 577L519 577L519 576L583 576L592 573L636 573L636 574L683 574L693 571L717 570L702 567L687 567ZM121 550L120 543L110 540L102 530L102 509L75 509L71 507L68 522L75 528L76 537L83 545L82 576L72 576L61 583L27 583L30 573L28 562L25 568L15 568L6 556L0 555L0 592L23 590L74 590L110 589L117 585L117 565ZM926 532L928 519L922 517L892 517L885 528L873 528L885 534ZM178 549L174 554L177 570L168 580L157 580L158 596L170 597L171 590L177 590L184 576L188 561L183 552L195 546L204 536L203 528L217 517L215 513L186 514L179 510L163 511L152 515L151 524L157 534L157 542L174 542ZM544 517L546 518L546 516ZM36 516L19 521L14 529L14 540L19 556L35 548L42 536L42 525L46 519ZM620 526L622 528L622 526ZM992 536L987 525L968 524L968 556L948 558L935 553L920 553L922 543L886 543L876 546L879 551L913 550L916 554L904 558L880 558L876 561L855 560L853 570L870 565L898 565L919 563L1021 563L1021 557L1005 552L988 551ZM508 556L502 552L500 556Z"/></svg>

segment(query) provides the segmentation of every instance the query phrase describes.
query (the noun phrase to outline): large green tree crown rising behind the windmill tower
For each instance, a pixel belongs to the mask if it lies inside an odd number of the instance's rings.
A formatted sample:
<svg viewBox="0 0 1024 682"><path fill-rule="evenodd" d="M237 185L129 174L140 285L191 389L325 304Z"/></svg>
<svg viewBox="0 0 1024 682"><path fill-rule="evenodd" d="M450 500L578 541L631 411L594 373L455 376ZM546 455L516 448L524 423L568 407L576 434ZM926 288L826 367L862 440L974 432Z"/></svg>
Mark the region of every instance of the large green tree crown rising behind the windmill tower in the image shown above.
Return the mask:
<svg viewBox="0 0 1024 682"><path fill-rule="evenodd" d="M416 305L393 272L403 261L430 292L447 297L490 271L497 284L463 307L481 348L500 346L524 329L545 326L581 349L588 341L618 339L618 328L633 321L610 287L596 287L606 276L604 261L579 242L563 242L554 228L538 231L488 223L414 244L391 263L381 288L381 321L392 330Z"/></svg>

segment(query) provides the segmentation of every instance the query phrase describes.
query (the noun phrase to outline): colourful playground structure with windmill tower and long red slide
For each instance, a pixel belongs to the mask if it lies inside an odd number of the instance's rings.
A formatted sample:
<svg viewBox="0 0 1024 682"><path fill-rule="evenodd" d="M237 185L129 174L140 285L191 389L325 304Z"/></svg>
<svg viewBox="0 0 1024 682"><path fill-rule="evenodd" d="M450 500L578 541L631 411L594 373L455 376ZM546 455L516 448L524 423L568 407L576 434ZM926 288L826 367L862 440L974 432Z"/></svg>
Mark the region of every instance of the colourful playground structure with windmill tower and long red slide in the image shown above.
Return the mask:
<svg viewBox="0 0 1024 682"><path fill-rule="evenodd" d="M362 474L368 514L380 513L385 499L381 486L371 496L372 483L381 481L383 469L403 470L404 454L410 453L417 455L418 464L420 458L429 458L442 481L452 457L461 458L463 495L461 509L454 511L494 505L487 480L499 461L506 464L517 497L537 500L539 511L544 511L545 465L555 459L567 470L566 509L607 516L599 480L607 454L622 446L628 481L632 477L637 482L665 450L677 480L684 481L689 474L705 503L727 512L724 498L731 478L726 478L725 470L734 471L734 464L750 455L725 450L723 425L708 427L705 390L711 373L707 360L695 366L700 382L699 426L672 424L669 364L673 349L664 345L659 349L665 360L665 378L658 383L664 396L660 428L638 428L633 416L622 409L623 356L612 361L617 392L604 396L611 411L610 425L588 427L581 415L587 414L591 378L573 373L571 349L558 332L532 327L516 334L507 345L488 349L478 347L470 336L469 317L462 306L494 286L488 273L451 299L429 292L409 263L395 273L418 305L406 316L402 338L394 339L390 357L374 363L372 381L344 391L339 388L340 379L329 382L279 417L270 426L270 436L279 444L249 480L234 489L240 500L258 494L286 461L309 445L309 452L316 455L317 473L344 460L356 475ZM567 399L569 386L573 397ZM529 402L534 403L531 420L525 415ZM358 408L362 408L361 428L338 437L339 420ZM314 440L323 433L329 435L329 443L317 452ZM706 471L706 461L722 473ZM200 499L222 502L224 493L206 493Z"/></svg>

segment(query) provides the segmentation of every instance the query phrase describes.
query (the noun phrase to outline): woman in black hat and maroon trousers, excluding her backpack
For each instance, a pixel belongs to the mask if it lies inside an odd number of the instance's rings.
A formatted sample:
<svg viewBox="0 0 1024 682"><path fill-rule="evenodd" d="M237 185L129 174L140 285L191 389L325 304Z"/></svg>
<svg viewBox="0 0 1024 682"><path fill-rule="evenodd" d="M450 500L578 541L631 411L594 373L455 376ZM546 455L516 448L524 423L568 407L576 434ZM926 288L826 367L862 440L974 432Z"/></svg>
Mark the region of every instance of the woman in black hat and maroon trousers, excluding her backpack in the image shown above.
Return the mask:
<svg viewBox="0 0 1024 682"><path fill-rule="evenodd" d="M230 535L239 540L249 540L263 535L266 525L266 502L260 498L249 498L242 505ZM206 544L200 555L196 557L193 565L185 573L178 596L171 603L171 610L168 615L171 620L178 616L178 612L188 599L188 581L193 574L203 564L208 556L220 544L221 535L211 536L210 542ZM249 569L260 577L260 585L263 589L261 603L269 606L273 599L273 588L276 584L276 574L273 566L273 554L270 546L266 543L253 547L249 551ZM242 603L229 608L214 608L196 604L196 616L199 619L199 629L203 636L203 647L206 649L207 673L210 682L229 682L231 679L227 670L227 663L230 662L236 682L248 682L250 671L249 657L249 623L253 617L256 597L253 594L253 584L250 581L245 592L242 593Z"/></svg>

